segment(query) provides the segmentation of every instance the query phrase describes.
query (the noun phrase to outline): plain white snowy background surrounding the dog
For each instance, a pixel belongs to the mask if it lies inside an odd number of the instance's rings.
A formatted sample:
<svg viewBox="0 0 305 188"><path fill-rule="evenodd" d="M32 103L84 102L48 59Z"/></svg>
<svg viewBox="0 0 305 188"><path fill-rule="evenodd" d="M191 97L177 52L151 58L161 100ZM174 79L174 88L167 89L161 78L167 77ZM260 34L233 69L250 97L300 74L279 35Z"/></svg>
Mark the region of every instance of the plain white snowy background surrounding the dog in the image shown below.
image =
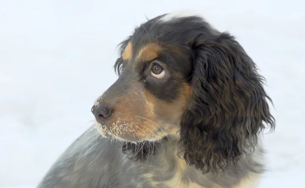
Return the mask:
<svg viewBox="0 0 305 188"><path fill-rule="evenodd" d="M88 128L115 80L116 46L148 18L201 12L257 63L275 108L260 187L304 187L305 3L0 0L0 187L35 187Z"/></svg>

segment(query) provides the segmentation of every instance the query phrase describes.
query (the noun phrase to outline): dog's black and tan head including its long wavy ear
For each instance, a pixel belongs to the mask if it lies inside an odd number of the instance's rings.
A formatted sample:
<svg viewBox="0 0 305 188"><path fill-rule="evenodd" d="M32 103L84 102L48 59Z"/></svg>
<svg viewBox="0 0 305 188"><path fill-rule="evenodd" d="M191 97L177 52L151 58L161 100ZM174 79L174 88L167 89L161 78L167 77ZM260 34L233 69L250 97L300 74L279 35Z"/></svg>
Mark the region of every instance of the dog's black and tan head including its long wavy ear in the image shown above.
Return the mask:
<svg viewBox="0 0 305 188"><path fill-rule="evenodd" d="M210 170L273 129L255 63L202 17L158 16L120 47L118 79L92 108L102 135L127 142L176 135L187 163Z"/></svg>

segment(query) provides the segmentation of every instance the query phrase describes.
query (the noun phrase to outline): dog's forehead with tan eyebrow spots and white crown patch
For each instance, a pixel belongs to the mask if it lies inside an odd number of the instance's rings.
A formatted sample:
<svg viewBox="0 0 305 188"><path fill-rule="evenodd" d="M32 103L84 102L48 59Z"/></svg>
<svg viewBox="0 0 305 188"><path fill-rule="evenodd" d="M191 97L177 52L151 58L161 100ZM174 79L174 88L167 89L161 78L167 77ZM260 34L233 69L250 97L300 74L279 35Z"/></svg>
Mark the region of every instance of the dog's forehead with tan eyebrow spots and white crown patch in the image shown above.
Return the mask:
<svg viewBox="0 0 305 188"><path fill-rule="evenodd" d="M189 38L194 25L204 23L203 18L193 14L177 12L157 16L136 27L123 49L123 59L149 61L158 56L158 52L170 46L180 46ZM176 48L177 49L177 48Z"/></svg>

